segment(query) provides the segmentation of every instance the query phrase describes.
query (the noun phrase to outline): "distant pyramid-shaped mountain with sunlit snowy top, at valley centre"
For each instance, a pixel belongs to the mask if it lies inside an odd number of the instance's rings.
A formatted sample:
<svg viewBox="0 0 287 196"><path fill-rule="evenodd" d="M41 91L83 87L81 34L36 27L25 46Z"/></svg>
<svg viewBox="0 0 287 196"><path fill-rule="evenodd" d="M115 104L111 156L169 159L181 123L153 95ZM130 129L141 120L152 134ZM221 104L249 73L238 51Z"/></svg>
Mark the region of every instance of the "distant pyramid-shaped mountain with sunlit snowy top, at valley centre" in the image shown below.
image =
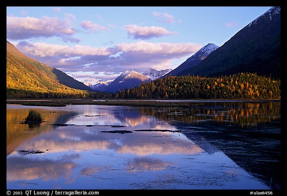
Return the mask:
<svg viewBox="0 0 287 196"><path fill-rule="evenodd" d="M106 92L117 92L118 90L138 87L141 83L150 82L151 80L135 70L124 71L105 89Z"/></svg>

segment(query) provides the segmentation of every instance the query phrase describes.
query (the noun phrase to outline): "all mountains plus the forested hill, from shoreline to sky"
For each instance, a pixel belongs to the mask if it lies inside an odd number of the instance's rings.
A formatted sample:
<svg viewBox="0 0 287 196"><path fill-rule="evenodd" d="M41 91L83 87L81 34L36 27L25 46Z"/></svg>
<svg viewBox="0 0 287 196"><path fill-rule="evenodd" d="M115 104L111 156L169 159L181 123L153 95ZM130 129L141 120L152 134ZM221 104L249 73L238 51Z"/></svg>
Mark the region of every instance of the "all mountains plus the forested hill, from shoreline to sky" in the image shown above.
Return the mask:
<svg viewBox="0 0 287 196"><path fill-rule="evenodd" d="M208 43L173 70L123 70L91 84L6 41L6 98L280 99L280 47L281 7L272 7L222 46Z"/></svg>

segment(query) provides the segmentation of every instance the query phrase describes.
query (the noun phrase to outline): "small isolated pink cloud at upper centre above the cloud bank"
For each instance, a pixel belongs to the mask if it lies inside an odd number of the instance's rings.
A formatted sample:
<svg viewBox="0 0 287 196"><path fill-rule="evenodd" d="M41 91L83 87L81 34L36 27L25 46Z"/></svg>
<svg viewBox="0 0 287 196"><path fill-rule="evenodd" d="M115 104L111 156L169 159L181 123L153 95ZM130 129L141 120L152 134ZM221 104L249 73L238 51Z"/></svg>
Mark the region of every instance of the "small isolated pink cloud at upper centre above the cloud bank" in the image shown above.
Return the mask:
<svg viewBox="0 0 287 196"><path fill-rule="evenodd" d="M139 26L137 24L130 24L124 27L128 31L128 34L135 39L150 39L152 37L175 34L160 26Z"/></svg>

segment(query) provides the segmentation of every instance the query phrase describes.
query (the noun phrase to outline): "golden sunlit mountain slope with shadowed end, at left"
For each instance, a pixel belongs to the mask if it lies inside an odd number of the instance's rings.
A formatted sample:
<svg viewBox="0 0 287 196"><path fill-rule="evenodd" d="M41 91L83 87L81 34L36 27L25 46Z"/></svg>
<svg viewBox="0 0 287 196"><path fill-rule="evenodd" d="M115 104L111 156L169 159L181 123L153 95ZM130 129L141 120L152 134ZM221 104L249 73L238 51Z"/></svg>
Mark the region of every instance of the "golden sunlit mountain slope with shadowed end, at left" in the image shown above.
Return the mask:
<svg viewBox="0 0 287 196"><path fill-rule="evenodd" d="M75 89L92 91L64 72L25 56L8 41L6 41L6 88L35 92L71 93L76 92Z"/></svg>

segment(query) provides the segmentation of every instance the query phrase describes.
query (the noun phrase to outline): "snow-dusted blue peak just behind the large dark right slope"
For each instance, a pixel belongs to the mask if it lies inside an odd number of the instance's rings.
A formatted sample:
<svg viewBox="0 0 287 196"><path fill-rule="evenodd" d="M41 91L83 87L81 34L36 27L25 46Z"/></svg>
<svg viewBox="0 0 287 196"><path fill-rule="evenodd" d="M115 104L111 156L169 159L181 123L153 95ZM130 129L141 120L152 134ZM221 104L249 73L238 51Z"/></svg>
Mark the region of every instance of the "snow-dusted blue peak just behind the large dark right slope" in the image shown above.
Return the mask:
<svg viewBox="0 0 287 196"><path fill-rule="evenodd" d="M177 75L179 72L182 72L188 68L196 66L200 61L204 60L211 52L219 48L219 46L214 43L208 43L189 57L186 61L180 64L178 67L170 71L166 76Z"/></svg>

